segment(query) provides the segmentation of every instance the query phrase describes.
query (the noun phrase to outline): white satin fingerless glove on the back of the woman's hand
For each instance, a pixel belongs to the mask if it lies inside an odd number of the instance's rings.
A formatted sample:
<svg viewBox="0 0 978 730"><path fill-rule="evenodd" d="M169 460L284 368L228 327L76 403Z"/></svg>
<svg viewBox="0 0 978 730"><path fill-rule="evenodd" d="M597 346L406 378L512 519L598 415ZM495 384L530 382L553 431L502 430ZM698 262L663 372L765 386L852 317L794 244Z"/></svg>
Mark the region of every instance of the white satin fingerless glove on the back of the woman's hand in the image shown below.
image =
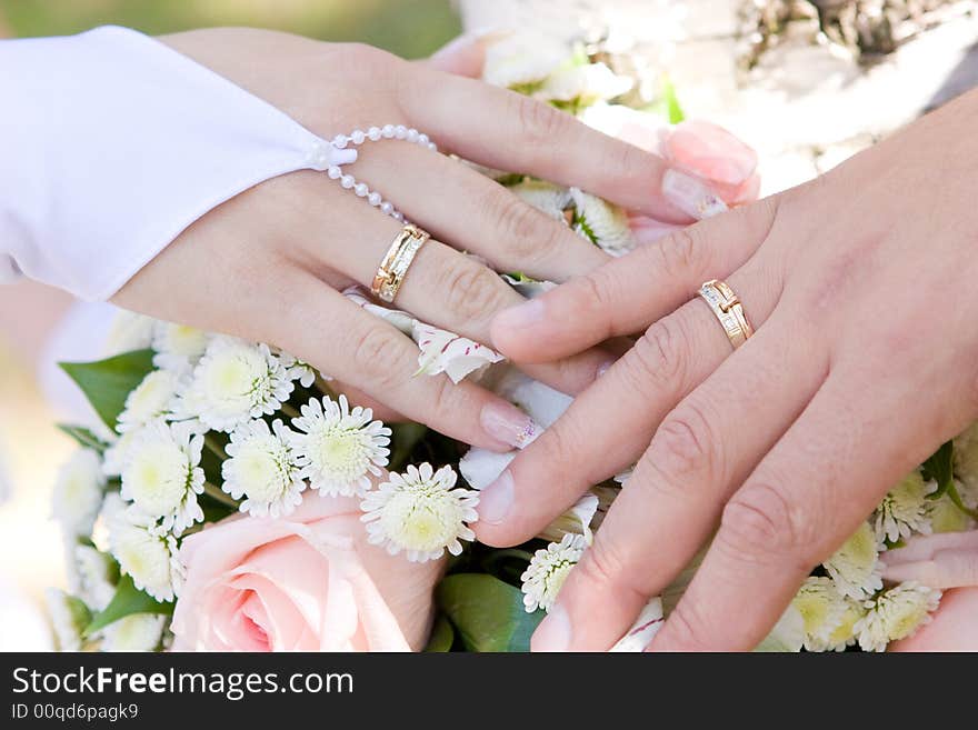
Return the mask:
<svg viewBox="0 0 978 730"><path fill-rule="evenodd" d="M108 299L207 211L356 159L141 33L0 41L0 282Z"/></svg>

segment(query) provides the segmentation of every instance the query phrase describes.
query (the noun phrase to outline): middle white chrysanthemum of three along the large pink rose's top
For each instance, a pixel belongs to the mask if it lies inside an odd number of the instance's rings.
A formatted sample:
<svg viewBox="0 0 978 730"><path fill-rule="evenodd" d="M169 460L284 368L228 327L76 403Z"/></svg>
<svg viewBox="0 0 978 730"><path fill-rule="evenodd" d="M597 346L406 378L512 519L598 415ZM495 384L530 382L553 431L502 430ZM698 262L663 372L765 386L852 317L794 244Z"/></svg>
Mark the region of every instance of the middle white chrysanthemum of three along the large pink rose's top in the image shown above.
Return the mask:
<svg viewBox="0 0 978 730"><path fill-rule="evenodd" d="M357 406L346 396L339 402L323 397L302 406L292 426L301 431L291 437L299 477L325 497L366 494L370 474L379 477L387 466L390 429L373 421L373 411Z"/></svg>

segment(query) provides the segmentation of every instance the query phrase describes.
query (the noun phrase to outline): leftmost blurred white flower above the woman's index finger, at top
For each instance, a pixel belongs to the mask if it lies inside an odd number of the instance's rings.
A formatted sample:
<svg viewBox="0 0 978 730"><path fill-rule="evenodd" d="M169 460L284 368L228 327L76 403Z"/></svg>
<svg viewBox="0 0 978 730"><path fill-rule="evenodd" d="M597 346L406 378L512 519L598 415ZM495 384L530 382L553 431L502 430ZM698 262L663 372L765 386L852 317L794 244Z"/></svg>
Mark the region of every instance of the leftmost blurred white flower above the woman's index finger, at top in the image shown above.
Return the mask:
<svg viewBox="0 0 978 730"><path fill-rule="evenodd" d="M486 49L482 80L497 87L541 83L570 58L559 41L529 33L511 33Z"/></svg>

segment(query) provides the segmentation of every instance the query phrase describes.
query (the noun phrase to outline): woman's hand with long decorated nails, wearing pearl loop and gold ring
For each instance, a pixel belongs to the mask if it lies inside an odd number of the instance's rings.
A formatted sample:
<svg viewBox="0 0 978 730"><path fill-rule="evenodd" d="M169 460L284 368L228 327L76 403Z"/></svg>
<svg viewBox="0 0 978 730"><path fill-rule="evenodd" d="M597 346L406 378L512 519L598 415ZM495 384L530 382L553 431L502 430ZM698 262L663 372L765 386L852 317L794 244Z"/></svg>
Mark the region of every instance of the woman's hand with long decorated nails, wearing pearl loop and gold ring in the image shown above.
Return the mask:
<svg viewBox="0 0 978 730"><path fill-rule="evenodd" d="M437 64L261 30L203 30L162 40L325 139L402 123L466 159L579 186L660 219L691 220L665 200L667 166L660 158ZM440 63L465 70L479 62L475 56L449 53ZM493 269L563 281L607 260L503 187L417 144L366 146L349 171L438 239L418 253L397 304L473 340L488 341L492 316L521 301ZM471 383L412 378L413 343L337 291L369 286L399 230L396 220L326 174L296 172L201 218L114 301L272 342L368 400L467 442L509 448L528 428L526 416ZM590 350L528 372L577 392L609 357Z"/></svg>

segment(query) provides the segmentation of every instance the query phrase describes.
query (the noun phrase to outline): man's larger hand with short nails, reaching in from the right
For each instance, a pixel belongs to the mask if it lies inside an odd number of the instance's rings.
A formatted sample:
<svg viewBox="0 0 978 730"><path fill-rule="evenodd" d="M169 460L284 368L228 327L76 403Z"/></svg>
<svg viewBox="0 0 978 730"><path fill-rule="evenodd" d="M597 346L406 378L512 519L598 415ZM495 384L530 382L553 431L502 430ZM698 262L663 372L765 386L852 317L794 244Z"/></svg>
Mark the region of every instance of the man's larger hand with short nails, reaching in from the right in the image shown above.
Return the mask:
<svg viewBox="0 0 978 730"><path fill-rule="evenodd" d="M888 488L975 420L976 114L972 92L496 318L495 346L536 363L648 328L482 492L479 539L513 544L638 460L535 649L607 649L715 531L652 649L752 648ZM713 278L757 330L734 352L693 298Z"/></svg>

